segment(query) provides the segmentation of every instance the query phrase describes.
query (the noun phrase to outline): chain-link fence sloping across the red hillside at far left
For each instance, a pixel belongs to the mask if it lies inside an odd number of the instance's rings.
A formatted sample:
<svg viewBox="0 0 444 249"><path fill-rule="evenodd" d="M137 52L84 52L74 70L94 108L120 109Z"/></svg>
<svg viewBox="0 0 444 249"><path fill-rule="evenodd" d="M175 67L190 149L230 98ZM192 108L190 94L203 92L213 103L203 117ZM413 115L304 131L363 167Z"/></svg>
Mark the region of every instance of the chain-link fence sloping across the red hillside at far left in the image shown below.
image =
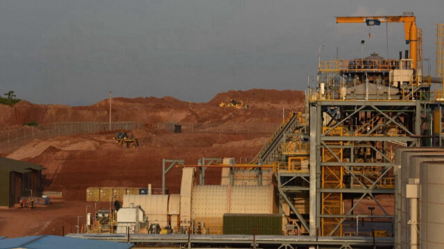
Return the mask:
<svg viewBox="0 0 444 249"><path fill-rule="evenodd" d="M105 132L108 130L133 130L142 128L136 122L76 122L47 123L39 126L18 126L0 131L0 153L16 150L33 139L51 139L76 134Z"/></svg>

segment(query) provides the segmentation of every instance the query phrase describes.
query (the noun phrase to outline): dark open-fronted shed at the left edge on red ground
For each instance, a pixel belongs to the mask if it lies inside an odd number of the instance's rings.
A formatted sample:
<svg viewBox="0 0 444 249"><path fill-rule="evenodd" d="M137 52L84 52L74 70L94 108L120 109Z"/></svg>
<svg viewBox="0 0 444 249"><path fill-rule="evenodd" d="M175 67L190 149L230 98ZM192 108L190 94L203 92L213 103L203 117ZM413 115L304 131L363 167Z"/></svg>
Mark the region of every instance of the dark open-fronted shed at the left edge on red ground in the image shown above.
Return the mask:
<svg viewBox="0 0 444 249"><path fill-rule="evenodd" d="M42 194L44 167L0 157L0 207L12 207L21 196Z"/></svg>

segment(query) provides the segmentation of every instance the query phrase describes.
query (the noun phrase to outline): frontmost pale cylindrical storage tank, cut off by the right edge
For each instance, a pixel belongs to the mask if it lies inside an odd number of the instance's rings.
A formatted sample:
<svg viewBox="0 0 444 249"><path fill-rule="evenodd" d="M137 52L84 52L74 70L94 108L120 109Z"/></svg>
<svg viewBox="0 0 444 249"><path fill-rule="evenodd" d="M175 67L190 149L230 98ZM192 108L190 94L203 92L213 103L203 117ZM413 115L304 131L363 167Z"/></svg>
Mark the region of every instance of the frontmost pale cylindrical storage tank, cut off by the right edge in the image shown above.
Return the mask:
<svg viewBox="0 0 444 249"><path fill-rule="evenodd" d="M437 249L444 245L444 162L420 164L420 245Z"/></svg>

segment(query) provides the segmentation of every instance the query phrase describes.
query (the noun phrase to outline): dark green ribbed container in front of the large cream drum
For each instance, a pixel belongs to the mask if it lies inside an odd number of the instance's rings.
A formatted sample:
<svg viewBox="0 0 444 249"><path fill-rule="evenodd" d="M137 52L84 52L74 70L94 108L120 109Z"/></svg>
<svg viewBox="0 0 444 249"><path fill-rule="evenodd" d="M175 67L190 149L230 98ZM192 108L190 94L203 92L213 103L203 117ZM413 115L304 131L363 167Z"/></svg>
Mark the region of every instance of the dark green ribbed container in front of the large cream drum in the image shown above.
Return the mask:
<svg viewBox="0 0 444 249"><path fill-rule="evenodd" d="M223 234L282 235L279 214L223 214Z"/></svg>

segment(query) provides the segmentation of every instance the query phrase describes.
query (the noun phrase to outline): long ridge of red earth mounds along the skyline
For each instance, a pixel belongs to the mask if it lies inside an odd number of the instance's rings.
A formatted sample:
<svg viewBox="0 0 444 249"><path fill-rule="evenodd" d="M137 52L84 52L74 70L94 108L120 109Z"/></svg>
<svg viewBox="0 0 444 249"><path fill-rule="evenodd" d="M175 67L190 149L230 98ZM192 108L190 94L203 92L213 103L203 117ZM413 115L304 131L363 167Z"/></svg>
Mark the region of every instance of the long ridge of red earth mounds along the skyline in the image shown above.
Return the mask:
<svg viewBox="0 0 444 249"><path fill-rule="evenodd" d="M219 108L222 101L230 99L244 101L248 110ZM208 103L189 103L176 98L112 98L111 119L116 121L157 122L219 122L248 121L261 118L279 121L282 112L276 110L302 110L304 93L291 90L251 89L217 94ZM0 105L0 126L22 125L31 121L37 123L109 121L110 102L108 99L90 106L71 107L66 105L35 105L27 101L9 106Z"/></svg>

